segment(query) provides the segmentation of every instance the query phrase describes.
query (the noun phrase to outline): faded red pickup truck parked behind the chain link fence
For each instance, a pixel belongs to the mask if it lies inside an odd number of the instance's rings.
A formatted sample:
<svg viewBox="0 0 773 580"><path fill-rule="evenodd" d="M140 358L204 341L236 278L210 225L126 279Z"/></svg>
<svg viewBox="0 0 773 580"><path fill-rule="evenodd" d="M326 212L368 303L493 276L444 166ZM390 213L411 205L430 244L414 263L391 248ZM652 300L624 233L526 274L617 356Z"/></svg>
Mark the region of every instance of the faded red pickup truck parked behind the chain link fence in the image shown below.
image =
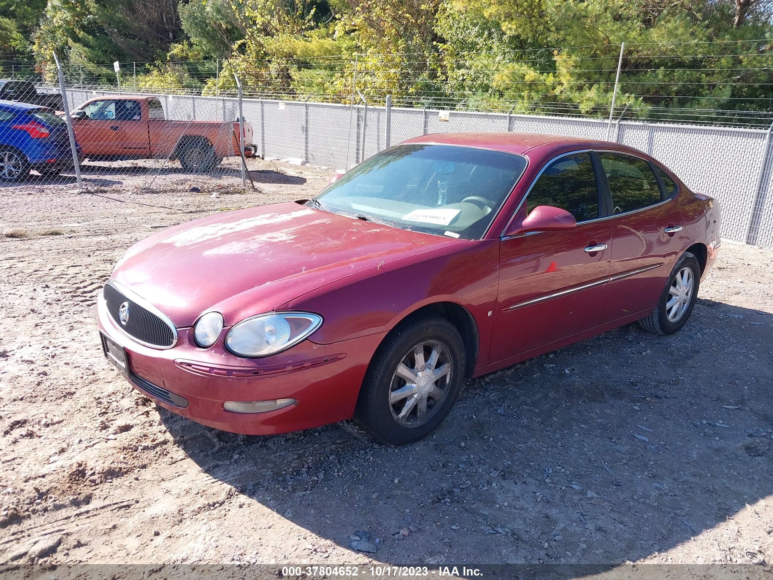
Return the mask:
<svg viewBox="0 0 773 580"><path fill-rule="evenodd" d="M75 138L90 159L179 159L206 172L240 155L239 121L170 121L156 97L98 97L73 111ZM244 155L253 157L252 125L243 122Z"/></svg>

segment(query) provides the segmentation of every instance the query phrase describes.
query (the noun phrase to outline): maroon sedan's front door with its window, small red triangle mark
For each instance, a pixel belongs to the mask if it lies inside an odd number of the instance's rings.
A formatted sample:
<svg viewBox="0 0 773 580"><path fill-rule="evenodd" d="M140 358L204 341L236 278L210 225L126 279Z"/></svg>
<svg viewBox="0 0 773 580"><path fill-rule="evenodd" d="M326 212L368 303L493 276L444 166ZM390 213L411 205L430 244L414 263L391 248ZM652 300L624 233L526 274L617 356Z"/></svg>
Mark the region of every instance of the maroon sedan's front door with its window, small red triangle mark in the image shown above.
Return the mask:
<svg viewBox="0 0 773 580"><path fill-rule="evenodd" d="M516 219L536 206L570 212L577 227L500 241L499 296L491 363L599 324L609 277L611 227L589 152L553 159L526 194ZM525 205L526 210L523 210Z"/></svg>

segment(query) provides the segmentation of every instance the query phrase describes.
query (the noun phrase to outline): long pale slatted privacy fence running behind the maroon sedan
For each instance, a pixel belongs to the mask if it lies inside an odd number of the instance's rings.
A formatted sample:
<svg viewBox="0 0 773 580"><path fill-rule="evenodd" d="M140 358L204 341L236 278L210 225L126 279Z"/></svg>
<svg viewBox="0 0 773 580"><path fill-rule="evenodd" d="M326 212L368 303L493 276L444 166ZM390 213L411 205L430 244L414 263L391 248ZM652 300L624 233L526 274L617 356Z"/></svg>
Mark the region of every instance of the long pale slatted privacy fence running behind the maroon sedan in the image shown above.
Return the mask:
<svg viewBox="0 0 773 580"><path fill-rule="evenodd" d="M111 94L116 93L73 89L67 99L76 109L83 101ZM238 117L237 98L157 96L167 118ZM515 131L623 143L673 169L690 189L720 200L723 237L773 247L773 140L768 131L637 121L609 125L600 119L467 111L449 111L448 121L441 121L437 110L387 111L362 103L352 107L245 98L242 107L260 155L335 169L350 169L387 145L439 132Z"/></svg>

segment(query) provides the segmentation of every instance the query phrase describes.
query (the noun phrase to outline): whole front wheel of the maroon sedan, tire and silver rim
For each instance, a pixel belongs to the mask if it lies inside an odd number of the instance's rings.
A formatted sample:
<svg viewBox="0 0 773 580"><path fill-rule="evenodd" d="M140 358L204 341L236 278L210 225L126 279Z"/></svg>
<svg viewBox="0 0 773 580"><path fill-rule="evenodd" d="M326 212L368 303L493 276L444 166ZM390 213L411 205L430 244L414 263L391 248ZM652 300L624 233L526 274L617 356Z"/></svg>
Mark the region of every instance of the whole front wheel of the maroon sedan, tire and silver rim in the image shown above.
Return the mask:
<svg viewBox="0 0 773 580"><path fill-rule="evenodd" d="M451 411L464 372L465 346L451 322L434 316L404 322L373 355L354 418L380 442L417 441Z"/></svg>

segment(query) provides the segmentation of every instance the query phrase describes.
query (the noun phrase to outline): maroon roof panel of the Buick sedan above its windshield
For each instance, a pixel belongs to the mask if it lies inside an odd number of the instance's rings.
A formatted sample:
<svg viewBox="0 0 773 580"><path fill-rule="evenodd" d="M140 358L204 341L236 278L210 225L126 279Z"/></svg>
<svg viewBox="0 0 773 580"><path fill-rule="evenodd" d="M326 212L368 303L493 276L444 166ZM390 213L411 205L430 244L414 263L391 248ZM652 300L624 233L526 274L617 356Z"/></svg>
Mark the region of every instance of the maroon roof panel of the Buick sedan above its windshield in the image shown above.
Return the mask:
<svg viewBox="0 0 773 580"><path fill-rule="evenodd" d="M427 143L433 145L459 145L492 149L506 153L523 155L530 149L541 145L576 145L578 148L620 148L616 143L598 141L595 139L581 139L567 137L565 135L542 135L540 133L512 133L509 131L489 131L480 133L435 133L434 135L421 135L404 141L404 143Z"/></svg>

